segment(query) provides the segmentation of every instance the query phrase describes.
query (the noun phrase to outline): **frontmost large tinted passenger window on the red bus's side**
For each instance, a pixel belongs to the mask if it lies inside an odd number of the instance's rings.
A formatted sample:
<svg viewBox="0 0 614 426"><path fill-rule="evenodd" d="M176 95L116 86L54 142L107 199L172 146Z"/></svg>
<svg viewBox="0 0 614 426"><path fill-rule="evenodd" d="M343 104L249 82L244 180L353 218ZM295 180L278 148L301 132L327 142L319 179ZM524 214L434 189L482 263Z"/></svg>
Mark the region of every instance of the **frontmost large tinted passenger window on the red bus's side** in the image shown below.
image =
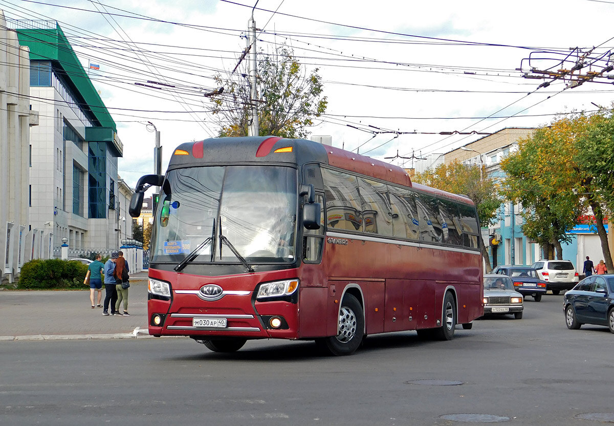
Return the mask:
<svg viewBox="0 0 614 426"><path fill-rule="evenodd" d="M362 199L355 176L322 168L329 229L362 231Z"/></svg>

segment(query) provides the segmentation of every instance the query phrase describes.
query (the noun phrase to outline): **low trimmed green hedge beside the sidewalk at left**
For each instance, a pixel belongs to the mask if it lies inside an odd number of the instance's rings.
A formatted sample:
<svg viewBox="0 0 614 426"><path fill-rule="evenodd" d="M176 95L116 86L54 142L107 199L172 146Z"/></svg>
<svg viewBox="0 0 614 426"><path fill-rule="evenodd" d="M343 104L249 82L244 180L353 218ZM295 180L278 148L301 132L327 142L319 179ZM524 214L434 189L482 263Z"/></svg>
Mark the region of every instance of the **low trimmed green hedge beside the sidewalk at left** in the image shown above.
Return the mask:
<svg viewBox="0 0 614 426"><path fill-rule="evenodd" d="M89 289L87 266L80 261L34 259L21 266L18 289Z"/></svg>

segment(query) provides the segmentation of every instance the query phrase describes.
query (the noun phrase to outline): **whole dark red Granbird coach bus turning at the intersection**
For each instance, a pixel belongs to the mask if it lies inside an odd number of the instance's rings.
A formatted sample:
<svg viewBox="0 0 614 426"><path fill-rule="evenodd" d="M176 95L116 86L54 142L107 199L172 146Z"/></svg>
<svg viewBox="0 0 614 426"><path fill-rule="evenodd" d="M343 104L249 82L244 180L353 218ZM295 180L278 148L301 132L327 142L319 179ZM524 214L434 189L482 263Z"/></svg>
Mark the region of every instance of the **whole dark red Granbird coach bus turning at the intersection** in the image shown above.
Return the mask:
<svg viewBox="0 0 614 426"><path fill-rule="evenodd" d="M352 354L367 335L452 339L483 314L470 199L328 145L226 137L179 145L150 246L149 333L216 352L249 339L315 340Z"/></svg>

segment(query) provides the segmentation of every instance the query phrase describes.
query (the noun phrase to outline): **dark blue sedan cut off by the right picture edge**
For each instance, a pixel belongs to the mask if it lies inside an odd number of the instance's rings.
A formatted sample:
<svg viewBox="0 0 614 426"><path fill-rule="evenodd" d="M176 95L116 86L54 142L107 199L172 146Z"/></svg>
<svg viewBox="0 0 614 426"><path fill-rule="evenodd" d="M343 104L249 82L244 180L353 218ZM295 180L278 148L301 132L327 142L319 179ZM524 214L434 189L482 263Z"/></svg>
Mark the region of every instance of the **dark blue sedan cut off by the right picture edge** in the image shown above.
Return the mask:
<svg viewBox="0 0 614 426"><path fill-rule="evenodd" d="M565 323L570 330L582 324L606 325L614 333L614 274L591 275L565 293Z"/></svg>

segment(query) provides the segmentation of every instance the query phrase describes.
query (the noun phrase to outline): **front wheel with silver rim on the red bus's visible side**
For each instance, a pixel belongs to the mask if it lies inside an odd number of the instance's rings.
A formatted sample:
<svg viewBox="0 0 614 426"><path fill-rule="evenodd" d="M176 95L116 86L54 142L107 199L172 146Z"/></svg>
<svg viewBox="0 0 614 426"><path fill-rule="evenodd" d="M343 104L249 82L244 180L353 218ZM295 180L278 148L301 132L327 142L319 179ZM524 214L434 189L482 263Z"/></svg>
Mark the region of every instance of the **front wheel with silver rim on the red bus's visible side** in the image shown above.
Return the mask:
<svg viewBox="0 0 614 426"><path fill-rule="evenodd" d="M351 355L362 343L365 331L365 314L356 297L346 294L341 301L337 335L319 339L316 343L331 355Z"/></svg>

